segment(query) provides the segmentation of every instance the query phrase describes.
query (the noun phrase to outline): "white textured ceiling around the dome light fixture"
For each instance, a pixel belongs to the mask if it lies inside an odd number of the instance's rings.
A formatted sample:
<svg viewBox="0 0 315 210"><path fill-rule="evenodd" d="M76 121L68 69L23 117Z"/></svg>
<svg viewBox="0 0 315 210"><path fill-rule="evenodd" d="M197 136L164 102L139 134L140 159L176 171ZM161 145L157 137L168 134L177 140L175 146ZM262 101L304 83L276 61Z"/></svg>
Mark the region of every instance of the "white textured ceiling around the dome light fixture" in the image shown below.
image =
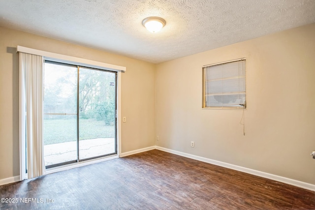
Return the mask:
<svg viewBox="0 0 315 210"><path fill-rule="evenodd" d="M0 0L0 26L154 63L314 22L315 0Z"/></svg>

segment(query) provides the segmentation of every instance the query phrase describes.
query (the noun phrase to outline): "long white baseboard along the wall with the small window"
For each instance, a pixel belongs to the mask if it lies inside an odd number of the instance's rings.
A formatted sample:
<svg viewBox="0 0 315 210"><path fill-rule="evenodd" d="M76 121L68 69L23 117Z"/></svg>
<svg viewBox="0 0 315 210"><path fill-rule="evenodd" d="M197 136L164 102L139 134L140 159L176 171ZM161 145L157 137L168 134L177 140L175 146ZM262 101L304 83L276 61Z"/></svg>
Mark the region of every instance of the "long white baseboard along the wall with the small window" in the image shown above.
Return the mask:
<svg viewBox="0 0 315 210"><path fill-rule="evenodd" d="M280 181L280 182L283 182L283 183L286 183L286 184L290 184L290 185L293 185L293 186L297 186L297 187L300 187L300 188L303 188L303 189L308 189L308 190L315 191L315 185L307 183L307 182L298 181L298 180L292 180L292 179L289 179L289 178L280 177L280 176L277 176L277 175L268 174L268 173L265 173L265 172L256 171L256 170L245 168L245 167L242 167L242 166L237 166L237 165L233 165L233 164L229 164L229 163L224 163L224 162L221 162L221 161L217 161L217 160L213 160L213 159L209 159L209 158L205 158L205 157L200 157L200 156L196 156L196 155L185 153L185 152L181 152L181 151L170 150L170 149L166 149L166 148L162 148L162 147L158 147L158 146L156 146L156 149L157 150L161 150L161 151L166 151L166 152L169 152L169 153L172 153L172 154L177 154L177 155L180 155L180 156L183 156L183 157L188 157L190 159L199 160L199 161L202 161L202 162L206 162L206 163L210 163L210 164L213 164L213 165L221 166L221 167L224 167L224 168L228 168L228 169L233 169L233 170L236 170L236 171L244 172L244 173L247 173L247 174L252 174L252 175L255 175L255 176L258 176L258 177L263 177L263 178L266 178L266 179L269 179L269 180Z"/></svg>

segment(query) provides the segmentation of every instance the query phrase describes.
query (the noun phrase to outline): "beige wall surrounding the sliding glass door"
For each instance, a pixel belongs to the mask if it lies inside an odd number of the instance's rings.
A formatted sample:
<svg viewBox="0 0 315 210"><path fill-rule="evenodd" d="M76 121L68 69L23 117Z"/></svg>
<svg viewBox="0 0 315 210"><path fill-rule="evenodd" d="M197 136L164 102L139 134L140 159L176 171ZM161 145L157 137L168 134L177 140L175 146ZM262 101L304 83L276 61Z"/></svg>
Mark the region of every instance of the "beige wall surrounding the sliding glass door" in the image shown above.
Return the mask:
<svg viewBox="0 0 315 210"><path fill-rule="evenodd" d="M155 64L0 28L0 180L19 175L17 45L126 66L122 73L122 152L155 144Z"/></svg>

